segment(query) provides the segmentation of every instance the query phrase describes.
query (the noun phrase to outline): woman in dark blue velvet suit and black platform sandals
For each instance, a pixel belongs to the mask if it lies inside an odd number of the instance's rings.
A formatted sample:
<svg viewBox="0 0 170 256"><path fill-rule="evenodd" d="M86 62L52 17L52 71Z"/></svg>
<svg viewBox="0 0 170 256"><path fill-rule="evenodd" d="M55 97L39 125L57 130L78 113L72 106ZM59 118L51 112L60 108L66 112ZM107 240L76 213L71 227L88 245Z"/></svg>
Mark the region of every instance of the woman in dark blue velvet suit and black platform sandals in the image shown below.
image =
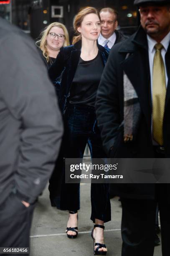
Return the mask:
<svg viewBox="0 0 170 256"><path fill-rule="evenodd" d="M74 37L73 45L62 48L49 69L54 84L58 84L63 72L59 105L65 123L64 157L82 159L88 143L91 158L104 158L94 104L109 51L97 44L101 29L97 10L92 7L81 10L74 18L74 29L79 35ZM63 181L61 209L69 210L66 229L69 238L76 238L78 234L79 191L79 184ZM105 255L104 222L111 220L108 184L91 184L91 220L96 224L92 232L96 242L94 253Z"/></svg>

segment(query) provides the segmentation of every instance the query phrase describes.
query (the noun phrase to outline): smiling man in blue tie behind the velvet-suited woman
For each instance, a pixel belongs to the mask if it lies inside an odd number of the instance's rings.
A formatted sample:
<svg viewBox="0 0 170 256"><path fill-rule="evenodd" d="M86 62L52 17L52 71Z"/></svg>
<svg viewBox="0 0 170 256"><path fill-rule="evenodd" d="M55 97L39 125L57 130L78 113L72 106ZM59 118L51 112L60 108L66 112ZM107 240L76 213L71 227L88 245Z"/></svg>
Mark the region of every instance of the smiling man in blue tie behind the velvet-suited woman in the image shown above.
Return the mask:
<svg viewBox="0 0 170 256"><path fill-rule="evenodd" d="M118 13L112 8L102 8L100 10L101 18L101 33L98 38L98 43L102 46L111 49L114 44L117 44L127 38L120 31L116 30L118 26Z"/></svg>

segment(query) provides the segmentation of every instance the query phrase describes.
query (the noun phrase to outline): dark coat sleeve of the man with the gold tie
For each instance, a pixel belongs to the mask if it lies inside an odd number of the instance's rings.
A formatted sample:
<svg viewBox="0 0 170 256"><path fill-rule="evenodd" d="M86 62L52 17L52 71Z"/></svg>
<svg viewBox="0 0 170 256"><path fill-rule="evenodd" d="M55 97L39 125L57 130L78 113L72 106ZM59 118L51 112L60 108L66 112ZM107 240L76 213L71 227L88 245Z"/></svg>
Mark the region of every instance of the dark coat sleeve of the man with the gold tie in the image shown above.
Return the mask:
<svg viewBox="0 0 170 256"><path fill-rule="evenodd" d="M114 58L114 49L101 76L101 82L96 96L96 117L101 131L103 146L107 154L114 146L117 129L120 124L119 95L117 82L117 61Z"/></svg>

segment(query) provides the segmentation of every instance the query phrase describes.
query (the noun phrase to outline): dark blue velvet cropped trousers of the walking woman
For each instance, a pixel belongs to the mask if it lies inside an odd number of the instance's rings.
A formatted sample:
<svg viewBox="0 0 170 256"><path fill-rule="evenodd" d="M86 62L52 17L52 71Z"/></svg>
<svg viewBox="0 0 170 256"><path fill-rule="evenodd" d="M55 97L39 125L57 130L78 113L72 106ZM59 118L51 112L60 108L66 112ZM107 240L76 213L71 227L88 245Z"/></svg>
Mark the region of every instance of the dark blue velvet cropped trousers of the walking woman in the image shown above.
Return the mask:
<svg viewBox="0 0 170 256"><path fill-rule="evenodd" d="M88 143L91 159L106 158L97 127L94 108L70 104L66 109L64 157L83 159ZM65 183L61 188L61 209L76 211L80 209L80 184ZM111 220L109 184L91 184L91 220Z"/></svg>

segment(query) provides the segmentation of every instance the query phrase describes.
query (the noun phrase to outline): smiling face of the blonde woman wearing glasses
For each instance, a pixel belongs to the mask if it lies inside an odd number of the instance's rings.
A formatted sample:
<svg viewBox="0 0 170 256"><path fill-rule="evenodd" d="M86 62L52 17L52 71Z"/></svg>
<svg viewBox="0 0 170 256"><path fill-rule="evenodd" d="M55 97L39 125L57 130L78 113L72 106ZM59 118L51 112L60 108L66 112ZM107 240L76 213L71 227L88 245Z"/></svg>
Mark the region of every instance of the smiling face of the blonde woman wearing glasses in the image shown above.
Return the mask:
<svg viewBox="0 0 170 256"><path fill-rule="evenodd" d="M61 36L61 35L63 35L63 36ZM47 40L47 48L48 49L51 49L54 51L60 50L60 48L63 46L64 41L65 41L65 35L64 35L63 29L58 28L58 27L51 28L46 40Z"/></svg>

